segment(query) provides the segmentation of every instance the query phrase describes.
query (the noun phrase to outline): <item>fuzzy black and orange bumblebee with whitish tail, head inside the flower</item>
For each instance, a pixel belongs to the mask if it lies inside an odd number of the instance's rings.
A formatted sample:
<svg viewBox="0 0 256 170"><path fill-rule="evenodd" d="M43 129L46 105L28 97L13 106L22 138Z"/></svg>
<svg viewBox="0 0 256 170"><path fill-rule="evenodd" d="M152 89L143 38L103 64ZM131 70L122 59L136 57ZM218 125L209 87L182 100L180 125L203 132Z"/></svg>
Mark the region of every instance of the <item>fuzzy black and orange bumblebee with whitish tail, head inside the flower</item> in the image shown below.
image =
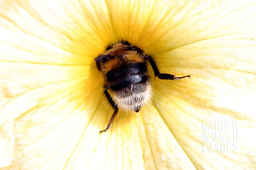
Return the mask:
<svg viewBox="0 0 256 170"><path fill-rule="evenodd" d="M104 78L103 94L113 107L114 113L107 128L100 133L110 128L119 108L124 111L139 112L143 105L151 101L152 88L147 61L153 68L155 78L164 80L190 78L190 75L175 77L172 74L161 73L153 56L145 54L127 41L118 41L108 46L105 52L95 58L95 62Z"/></svg>

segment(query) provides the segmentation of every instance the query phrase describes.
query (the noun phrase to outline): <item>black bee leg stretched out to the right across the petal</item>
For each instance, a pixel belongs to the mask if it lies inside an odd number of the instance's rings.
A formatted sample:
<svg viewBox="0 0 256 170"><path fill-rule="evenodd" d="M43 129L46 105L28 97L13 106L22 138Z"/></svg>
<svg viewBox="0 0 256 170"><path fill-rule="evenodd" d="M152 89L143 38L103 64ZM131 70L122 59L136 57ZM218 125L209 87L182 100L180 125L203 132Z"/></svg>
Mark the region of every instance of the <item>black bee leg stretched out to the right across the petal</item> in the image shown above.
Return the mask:
<svg viewBox="0 0 256 170"><path fill-rule="evenodd" d="M146 58L148 59L154 73L155 73L155 78L158 77L159 79L163 80L179 80L183 78L190 78L190 75L182 76L182 77L175 77L173 74L168 74L168 73L161 73L157 67L156 61L154 58L150 55L146 55ZM154 81L155 81L154 78Z"/></svg>

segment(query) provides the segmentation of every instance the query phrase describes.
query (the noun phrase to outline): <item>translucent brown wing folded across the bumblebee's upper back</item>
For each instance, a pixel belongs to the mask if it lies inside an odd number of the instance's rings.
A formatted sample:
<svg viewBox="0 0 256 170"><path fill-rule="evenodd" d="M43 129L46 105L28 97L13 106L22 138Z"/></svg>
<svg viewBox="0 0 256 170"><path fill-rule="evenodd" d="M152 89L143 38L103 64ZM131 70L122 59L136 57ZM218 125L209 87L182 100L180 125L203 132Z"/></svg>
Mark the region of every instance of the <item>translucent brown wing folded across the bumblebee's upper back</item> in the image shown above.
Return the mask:
<svg viewBox="0 0 256 170"><path fill-rule="evenodd" d="M106 52L104 52L104 55L111 55L111 56L120 56L120 55L131 55L131 54L137 54L136 51L129 50L130 46L127 45L119 45L115 46Z"/></svg>

